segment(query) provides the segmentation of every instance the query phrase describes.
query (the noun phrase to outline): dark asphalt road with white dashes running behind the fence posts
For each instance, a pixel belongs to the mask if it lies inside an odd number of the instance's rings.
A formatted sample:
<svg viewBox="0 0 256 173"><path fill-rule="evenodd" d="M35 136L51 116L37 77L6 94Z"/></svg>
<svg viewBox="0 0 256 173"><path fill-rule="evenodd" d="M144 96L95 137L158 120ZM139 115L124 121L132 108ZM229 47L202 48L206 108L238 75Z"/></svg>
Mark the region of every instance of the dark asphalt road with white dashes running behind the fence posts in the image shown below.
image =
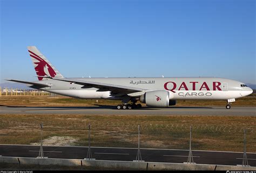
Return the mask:
<svg viewBox="0 0 256 173"><path fill-rule="evenodd" d="M39 146L0 144L0 155L12 157L37 157ZM43 146L44 156L49 158L84 159L87 147L52 147ZM133 161L136 160L136 148L91 147L92 158L96 160ZM187 162L188 150L140 149L145 162ZM200 164L237 165L242 164L243 153L225 151L192 150L193 160ZM256 166L256 153L247 153L248 164Z"/></svg>

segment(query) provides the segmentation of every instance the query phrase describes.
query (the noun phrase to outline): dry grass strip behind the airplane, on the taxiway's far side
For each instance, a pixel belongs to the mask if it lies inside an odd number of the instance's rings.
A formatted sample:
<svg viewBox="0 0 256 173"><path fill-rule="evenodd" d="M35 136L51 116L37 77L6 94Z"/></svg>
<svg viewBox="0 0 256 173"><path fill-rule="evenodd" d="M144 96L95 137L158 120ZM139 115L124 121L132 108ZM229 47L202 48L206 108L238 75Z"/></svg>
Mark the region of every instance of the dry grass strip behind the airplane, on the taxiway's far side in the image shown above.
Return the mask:
<svg viewBox="0 0 256 173"><path fill-rule="evenodd" d="M75 99L67 96L31 96L31 95L2 95L0 105L4 106L92 106L113 105L121 101L114 100L89 100ZM145 106L145 104L143 104ZM225 100L178 100L176 106L226 106ZM244 97L236 99L232 106L256 106L256 97Z"/></svg>

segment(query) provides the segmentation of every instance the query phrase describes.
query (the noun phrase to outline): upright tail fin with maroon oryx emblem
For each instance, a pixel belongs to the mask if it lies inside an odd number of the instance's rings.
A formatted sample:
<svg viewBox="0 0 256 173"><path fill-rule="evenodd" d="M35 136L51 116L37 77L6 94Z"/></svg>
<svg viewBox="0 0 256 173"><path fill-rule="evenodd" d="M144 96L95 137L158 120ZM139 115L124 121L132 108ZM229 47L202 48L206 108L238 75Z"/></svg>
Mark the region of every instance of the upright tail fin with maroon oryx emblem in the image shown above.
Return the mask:
<svg viewBox="0 0 256 173"><path fill-rule="evenodd" d="M38 80L45 80L46 78L43 77L64 78L36 46L28 46L28 51L35 67Z"/></svg>

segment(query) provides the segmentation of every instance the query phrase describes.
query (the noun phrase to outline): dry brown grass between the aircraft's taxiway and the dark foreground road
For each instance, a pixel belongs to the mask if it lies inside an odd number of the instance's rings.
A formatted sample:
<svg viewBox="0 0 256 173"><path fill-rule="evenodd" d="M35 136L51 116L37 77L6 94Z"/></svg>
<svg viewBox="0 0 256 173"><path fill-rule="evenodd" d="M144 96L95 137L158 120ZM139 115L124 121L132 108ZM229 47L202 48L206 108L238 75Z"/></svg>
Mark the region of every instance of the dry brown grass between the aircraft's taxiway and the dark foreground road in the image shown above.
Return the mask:
<svg viewBox="0 0 256 173"><path fill-rule="evenodd" d="M188 149L192 125L193 149L224 151L242 151L247 128L247 151L256 152L256 117L250 116L0 115L0 143L39 142L41 122L44 138L70 136L76 146L87 146L90 123L97 147L137 147L140 124L143 148L169 149Z"/></svg>

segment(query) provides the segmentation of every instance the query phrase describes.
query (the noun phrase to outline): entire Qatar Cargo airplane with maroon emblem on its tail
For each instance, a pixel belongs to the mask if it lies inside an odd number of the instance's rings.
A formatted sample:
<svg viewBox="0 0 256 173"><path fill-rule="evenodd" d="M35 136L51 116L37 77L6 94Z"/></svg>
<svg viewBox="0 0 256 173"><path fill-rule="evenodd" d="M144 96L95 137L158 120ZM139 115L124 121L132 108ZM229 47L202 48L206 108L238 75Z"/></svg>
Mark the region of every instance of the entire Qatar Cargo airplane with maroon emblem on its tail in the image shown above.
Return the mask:
<svg viewBox="0 0 256 173"><path fill-rule="evenodd" d="M80 99L122 100L117 109L176 105L176 100L227 100L231 102L253 91L243 82L224 78L65 78L35 46L28 46L38 81L28 84L42 91ZM131 103L129 103L131 102Z"/></svg>

